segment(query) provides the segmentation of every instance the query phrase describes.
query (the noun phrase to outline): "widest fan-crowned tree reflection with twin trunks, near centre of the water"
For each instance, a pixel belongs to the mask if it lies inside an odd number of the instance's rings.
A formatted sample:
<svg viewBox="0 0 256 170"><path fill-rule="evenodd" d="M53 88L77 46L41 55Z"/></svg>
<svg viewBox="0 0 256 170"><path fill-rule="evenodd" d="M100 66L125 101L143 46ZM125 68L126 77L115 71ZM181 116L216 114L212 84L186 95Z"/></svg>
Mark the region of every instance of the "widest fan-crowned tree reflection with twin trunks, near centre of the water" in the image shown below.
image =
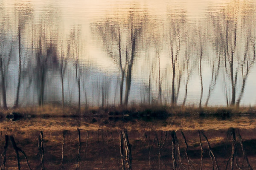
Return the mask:
<svg viewBox="0 0 256 170"><path fill-rule="evenodd" d="M137 20L137 14L131 9L127 20L120 21L120 18L103 20L103 24L96 23L96 31L102 37L103 45L108 52L108 56L118 65L121 73L119 88L120 105L128 105L131 90L132 70L136 53L136 42L141 36L142 24ZM111 41L111 43L109 43ZM125 81L125 82L124 82ZM124 88L125 83L125 90Z"/></svg>

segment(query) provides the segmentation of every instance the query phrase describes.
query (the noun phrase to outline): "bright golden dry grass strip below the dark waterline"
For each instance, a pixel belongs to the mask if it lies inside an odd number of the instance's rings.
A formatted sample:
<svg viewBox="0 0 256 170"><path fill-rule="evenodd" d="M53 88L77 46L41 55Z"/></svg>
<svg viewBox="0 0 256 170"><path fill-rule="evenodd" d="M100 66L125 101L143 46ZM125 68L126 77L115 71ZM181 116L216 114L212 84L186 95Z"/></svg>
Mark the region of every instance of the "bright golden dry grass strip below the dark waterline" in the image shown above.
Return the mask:
<svg viewBox="0 0 256 170"><path fill-rule="evenodd" d="M196 116L180 117L172 116L166 120L157 120L145 122L143 120L133 120L123 122L111 122L107 118L98 119L97 122L92 122L93 118L81 119L72 117L49 117L21 119L19 121L2 120L0 130L13 132L16 130L127 130L150 131L150 130L227 130L230 127L239 129L254 129L256 128L256 118L251 117L235 117L227 120L219 120L216 118L201 119ZM107 123L106 123L106 120Z"/></svg>

